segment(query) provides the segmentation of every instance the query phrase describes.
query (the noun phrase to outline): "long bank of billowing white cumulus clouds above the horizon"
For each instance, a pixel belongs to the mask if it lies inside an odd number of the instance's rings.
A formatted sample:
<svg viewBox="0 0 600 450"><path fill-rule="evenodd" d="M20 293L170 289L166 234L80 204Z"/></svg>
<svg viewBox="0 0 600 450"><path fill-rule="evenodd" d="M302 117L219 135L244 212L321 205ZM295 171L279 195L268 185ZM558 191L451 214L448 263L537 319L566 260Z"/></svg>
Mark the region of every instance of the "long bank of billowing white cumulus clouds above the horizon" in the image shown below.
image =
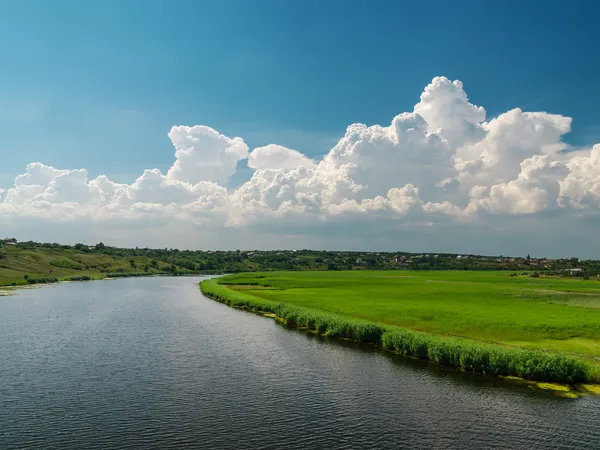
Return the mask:
<svg viewBox="0 0 600 450"><path fill-rule="evenodd" d="M176 126L171 168L131 184L33 162L0 189L0 227L121 245L502 253L524 239L541 253L574 253L577 236L595 237L586 233L600 212L600 144L571 151L570 130L569 117L519 108L488 120L460 81L436 77L412 112L348 126L318 161ZM252 177L228 189L243 160Z"/></svg>

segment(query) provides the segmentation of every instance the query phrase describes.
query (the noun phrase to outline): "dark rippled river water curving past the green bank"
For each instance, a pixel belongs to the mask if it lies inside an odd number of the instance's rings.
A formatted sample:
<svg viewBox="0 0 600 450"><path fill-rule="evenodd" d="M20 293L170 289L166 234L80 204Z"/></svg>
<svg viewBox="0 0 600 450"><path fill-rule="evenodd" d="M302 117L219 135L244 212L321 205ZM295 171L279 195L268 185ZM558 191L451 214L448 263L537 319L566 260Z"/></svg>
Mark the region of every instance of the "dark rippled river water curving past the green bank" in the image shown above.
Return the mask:
<svg viewBox="0 0 600 450"><path fill-rule="evenodd" d="M600 397L325 342L197 282L0 297L0 449L600 448Z"/></svg>

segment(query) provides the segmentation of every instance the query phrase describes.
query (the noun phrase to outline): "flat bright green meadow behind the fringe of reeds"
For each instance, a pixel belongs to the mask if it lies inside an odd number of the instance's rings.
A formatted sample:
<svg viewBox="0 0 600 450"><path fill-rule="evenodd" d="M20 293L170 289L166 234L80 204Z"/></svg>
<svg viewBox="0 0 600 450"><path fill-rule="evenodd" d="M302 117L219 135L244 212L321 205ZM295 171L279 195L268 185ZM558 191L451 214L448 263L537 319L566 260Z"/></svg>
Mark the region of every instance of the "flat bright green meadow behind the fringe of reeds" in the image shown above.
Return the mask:
<svg viewBox="0 0 600 450"><path fill-rule="evenodd" d="M506 272L272 272L219 279L274 303L600 360L600 281Z"/></svg>

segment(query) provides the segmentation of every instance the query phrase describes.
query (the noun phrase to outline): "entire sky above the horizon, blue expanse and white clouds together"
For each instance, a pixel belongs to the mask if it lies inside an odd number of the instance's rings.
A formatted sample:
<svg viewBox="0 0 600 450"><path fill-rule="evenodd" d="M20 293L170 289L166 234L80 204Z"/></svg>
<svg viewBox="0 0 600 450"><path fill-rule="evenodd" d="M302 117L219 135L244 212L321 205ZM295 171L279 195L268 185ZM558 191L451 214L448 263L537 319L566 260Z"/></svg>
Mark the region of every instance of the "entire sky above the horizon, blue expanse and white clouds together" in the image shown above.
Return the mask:
<svg viewBox="0 0 600 450"><path fill-rule="evenodd" d="M595 254L599 15L554 0L0 0L0 226L132 246Z"/></svg>

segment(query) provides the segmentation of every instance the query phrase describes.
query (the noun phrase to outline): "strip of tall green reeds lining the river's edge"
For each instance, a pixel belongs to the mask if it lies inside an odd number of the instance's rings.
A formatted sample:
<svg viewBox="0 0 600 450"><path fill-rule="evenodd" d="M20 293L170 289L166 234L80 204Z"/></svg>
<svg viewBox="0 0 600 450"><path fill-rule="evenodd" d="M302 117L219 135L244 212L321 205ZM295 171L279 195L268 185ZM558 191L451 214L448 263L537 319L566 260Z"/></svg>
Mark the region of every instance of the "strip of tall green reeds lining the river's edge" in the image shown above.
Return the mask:
<svg viewBox="0 0 600 450"><path fill-rule="evenodd" d="M379 344L382 348L401 355L428 359L465 371L567 384L600 381L597 366L559 353L436 336L289 306L231 290L219 285L216 279L205 280L200 286L204 295L214 300L235 308L273 313L289 326L306 328L333 338Z"/></svg>

